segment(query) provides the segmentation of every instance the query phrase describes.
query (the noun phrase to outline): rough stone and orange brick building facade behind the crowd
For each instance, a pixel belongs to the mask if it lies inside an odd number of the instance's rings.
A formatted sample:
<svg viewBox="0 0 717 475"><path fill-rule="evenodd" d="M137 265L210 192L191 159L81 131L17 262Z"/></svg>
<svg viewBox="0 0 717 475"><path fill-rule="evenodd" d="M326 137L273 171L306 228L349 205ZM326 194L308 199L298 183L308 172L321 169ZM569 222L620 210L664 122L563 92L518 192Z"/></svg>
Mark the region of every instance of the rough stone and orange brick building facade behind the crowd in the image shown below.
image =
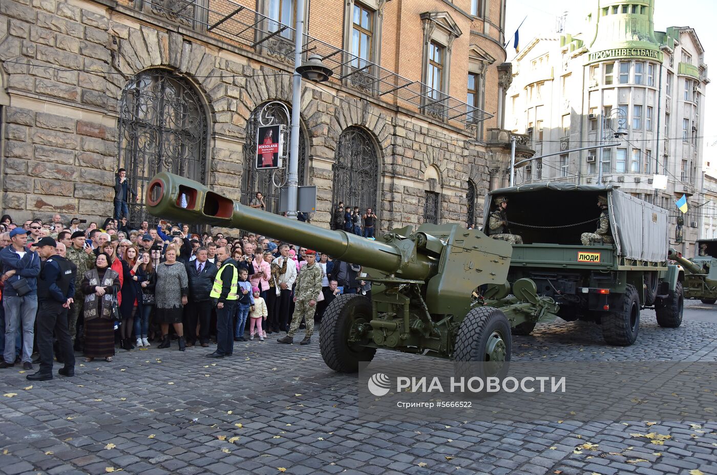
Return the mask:
<svg viewBox="0 0 717 475"><path fill-rule="evenodd" d="M252 158L262 113L288 124L294 13L292 0L2 1L2 212L103 219L120 167L133 222L164 170L243 203L262 191L277 211L285 173ZM486 143L504 18L498 0L310 2L305 49L333 70L301 93L315 224L339 199L373 207L382 230L480 216L486 154L510 147Z"/></svg>

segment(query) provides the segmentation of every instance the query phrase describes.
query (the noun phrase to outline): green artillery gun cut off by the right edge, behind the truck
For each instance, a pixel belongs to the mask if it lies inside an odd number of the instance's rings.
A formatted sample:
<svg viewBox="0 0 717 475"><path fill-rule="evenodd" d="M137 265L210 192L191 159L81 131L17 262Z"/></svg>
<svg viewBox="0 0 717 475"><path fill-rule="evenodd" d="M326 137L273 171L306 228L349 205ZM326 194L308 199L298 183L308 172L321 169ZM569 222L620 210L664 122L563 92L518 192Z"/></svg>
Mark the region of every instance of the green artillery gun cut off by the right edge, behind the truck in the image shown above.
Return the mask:
<svg viewBox="0 0 717 475"><path fill-rule="evenodd" d="M700 299L703 304L717 302L717 239L697 241L696 248L703 246L703 255L685 259L675 249L670 249L668 259L678 262L685 270L683 290L685 299Z"/></svg>

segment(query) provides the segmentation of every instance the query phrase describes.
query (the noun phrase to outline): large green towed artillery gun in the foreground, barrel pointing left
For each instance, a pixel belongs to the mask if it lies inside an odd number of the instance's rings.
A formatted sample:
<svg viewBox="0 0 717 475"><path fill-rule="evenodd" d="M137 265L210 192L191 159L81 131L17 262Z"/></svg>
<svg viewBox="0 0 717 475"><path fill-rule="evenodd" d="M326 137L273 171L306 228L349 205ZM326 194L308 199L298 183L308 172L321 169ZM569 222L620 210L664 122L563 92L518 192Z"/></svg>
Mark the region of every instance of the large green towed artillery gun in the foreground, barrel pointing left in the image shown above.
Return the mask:
<svg viewBox="0 0 717 475"><path fill-rule="evenodd" d="M252 231L363 266L364 279L373 284L371 299L339 295L320 327L323 360L342 373L356 372L378 348L509 361L511 328L554 320L558 312L553 299L538 297L531 279L506 283L510 244L457 224L406 226L371 241L243 206L170 173L153 178L146 203L154 216Z"/></svg>

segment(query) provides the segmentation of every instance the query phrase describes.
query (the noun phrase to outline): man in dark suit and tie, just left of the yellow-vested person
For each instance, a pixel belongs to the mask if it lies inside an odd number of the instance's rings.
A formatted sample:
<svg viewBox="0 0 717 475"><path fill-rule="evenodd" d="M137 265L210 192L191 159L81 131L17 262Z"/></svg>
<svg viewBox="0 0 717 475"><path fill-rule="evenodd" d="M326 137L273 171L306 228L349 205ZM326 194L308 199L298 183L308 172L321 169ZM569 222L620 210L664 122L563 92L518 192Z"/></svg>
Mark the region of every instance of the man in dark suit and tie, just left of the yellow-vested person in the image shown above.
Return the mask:
<svg viewBox="0 0 717 475"><path fill-rule="evenodd" d="M212 292L214 278L217 277L217 266L207 261L206 247L196 250L196 259L185 264L189 277L189 302L184 307L184 336L186 345L196 343L196 323L199 322L199 342L201 346L209 346L209 318L212 316Z"/></svg>

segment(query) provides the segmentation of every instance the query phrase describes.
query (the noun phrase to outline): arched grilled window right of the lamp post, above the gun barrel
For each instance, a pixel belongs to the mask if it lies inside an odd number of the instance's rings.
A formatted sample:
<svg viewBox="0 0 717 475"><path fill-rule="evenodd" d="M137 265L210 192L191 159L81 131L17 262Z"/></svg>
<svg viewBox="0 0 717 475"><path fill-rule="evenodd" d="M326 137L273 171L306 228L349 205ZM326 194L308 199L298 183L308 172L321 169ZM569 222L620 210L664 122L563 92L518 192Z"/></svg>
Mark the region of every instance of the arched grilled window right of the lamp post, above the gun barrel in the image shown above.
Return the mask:
<svg viewBox="0 0 717 475"><path fill-rule="evenodd" d="M333 205L339 201L376 211L378 196L379 158L376 146L366 131L358 127L343 130L336 145L333 164Z"/></svg>

